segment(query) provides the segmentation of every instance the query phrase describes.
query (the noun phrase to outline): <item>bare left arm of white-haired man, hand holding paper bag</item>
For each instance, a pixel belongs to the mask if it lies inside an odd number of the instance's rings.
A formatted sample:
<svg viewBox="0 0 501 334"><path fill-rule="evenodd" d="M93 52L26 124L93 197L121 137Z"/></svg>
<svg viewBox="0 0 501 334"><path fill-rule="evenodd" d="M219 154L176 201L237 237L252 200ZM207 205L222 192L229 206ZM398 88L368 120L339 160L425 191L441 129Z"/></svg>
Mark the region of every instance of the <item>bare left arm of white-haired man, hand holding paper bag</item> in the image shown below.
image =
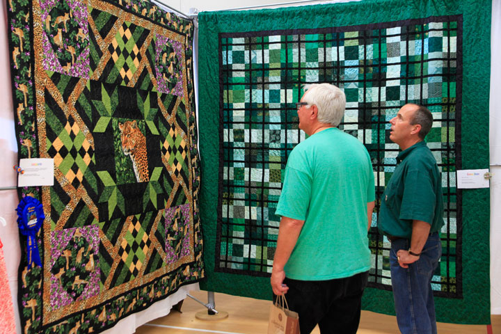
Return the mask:
<svg viewBox="0 0 501 334"><path fill-rule="evenodd" d="M289 287L283 287L285 278L284 267L296 246L297 239L303 228L304 221L282 217L278 229L277 246L273 257L273 270L271 271L271 288L273 294L286 294Z"/></svg>

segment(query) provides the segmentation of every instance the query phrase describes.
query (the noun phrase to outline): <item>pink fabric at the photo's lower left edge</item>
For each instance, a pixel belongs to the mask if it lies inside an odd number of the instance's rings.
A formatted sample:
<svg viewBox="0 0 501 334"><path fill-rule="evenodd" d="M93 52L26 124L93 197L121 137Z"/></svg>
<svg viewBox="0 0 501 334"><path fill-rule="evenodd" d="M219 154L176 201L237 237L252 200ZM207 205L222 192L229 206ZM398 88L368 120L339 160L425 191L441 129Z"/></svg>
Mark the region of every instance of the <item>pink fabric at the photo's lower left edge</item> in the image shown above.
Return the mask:
<svg viewBox="0 0 501 334"><path fill-rule="evenodd" d="M7 267L3 258L0 241L0 334L15 333L14 305L7 277Z"/></svg>

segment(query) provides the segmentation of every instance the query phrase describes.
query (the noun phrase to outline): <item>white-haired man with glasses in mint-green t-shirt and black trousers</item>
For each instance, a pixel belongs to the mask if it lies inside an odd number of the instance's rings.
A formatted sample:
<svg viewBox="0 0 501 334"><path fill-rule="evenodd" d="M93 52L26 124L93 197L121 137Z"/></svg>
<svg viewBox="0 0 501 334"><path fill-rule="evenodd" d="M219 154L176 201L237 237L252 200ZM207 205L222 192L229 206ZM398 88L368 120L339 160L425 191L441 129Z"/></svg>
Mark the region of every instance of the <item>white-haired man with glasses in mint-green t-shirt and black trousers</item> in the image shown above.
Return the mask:
<svg viewBox="0 0 501 334"><path fill-rule="evenodd" d="M271 287L287 293L301 334L317 324L321 333L356 333L367 285L374 172L364 145L337 129L345 105L336 86L305 87L297 109L309 137L289 155L276 209Z"/></svg>

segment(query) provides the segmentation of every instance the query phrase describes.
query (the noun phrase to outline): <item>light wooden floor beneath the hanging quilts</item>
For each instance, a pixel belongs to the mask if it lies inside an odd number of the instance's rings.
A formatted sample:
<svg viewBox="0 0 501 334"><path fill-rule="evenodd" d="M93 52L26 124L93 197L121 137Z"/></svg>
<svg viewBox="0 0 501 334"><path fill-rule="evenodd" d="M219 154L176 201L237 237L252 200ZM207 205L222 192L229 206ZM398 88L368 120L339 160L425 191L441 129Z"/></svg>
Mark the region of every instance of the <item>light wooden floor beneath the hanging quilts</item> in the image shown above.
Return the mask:
<svg viewBox="0 0 501 334"><path fill-rule="evenodd" d="M207 302L207 292L191 292L191 296L200 301ZM196 319L197 312L207 314L206 309L186 298L182 305L182 313L171 310L166 317L155 319L144 326L137 328L138 334L193 334L193 333L267 333L270 301L230 296L228 294L215 294L216 310L226 311L229 316L218 321L202 321ZM491 333L501 334L501 315L492 316ZM318 327L312 333L319 334ZM399 333L395 317L380 315L379 313L362 311L360 319L360 334ZM489 334L485 325L456 325L438 324L440 334Z"/></svg>

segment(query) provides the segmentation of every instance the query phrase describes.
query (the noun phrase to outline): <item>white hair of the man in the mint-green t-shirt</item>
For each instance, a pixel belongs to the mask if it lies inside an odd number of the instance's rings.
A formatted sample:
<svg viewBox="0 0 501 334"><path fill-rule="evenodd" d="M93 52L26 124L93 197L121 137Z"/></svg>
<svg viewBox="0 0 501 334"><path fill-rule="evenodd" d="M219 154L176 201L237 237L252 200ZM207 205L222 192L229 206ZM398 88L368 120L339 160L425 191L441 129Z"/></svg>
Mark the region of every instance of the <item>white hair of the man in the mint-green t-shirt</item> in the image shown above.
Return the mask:
<svg viewBox="0 0 501 334"><path fill-rule="evenodd" d="M344 92L331 84L308 84L303 89L309 92L303 97L303 102L317 106L319 122L337 127L344 116L346 107Z"/></svg>

